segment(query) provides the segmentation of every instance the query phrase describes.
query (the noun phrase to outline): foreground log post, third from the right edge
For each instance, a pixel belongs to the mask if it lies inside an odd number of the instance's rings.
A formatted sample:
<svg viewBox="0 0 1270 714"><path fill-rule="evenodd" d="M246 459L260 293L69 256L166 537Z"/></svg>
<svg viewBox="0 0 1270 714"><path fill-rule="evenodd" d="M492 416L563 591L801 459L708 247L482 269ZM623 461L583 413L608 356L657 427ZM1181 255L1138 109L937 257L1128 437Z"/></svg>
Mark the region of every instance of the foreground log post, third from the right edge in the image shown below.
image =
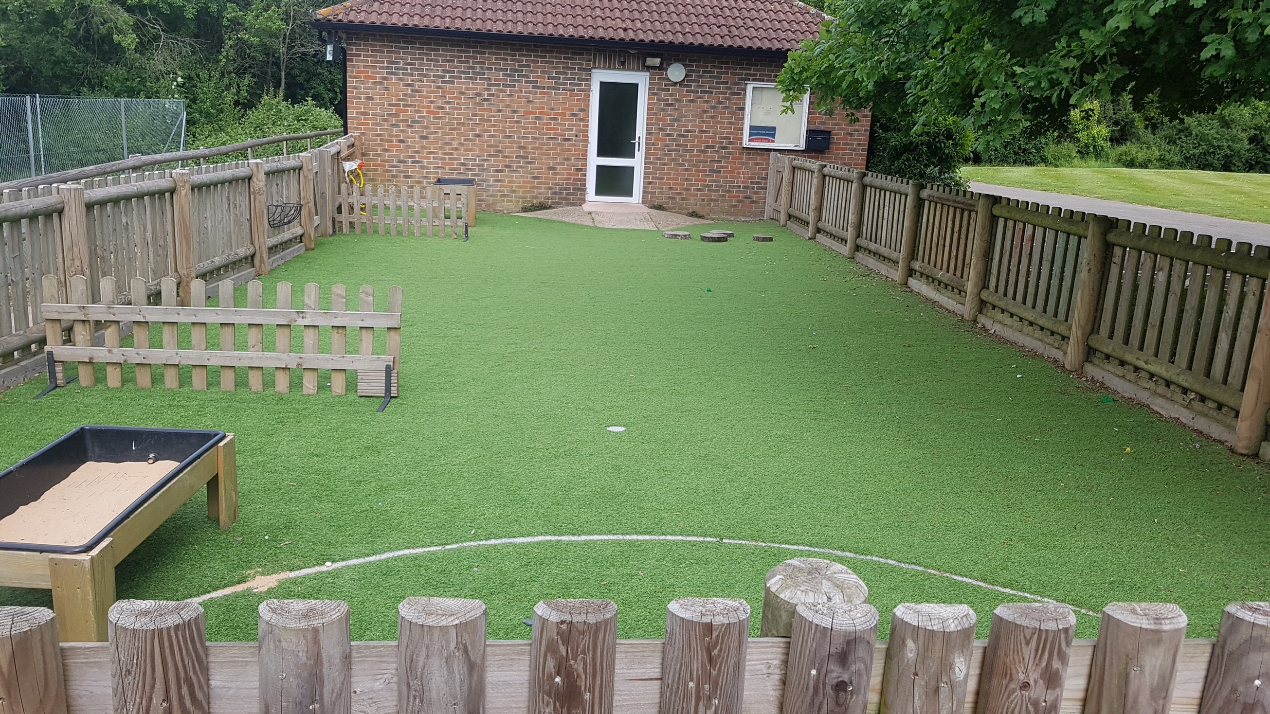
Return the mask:
<svg viewBox="0 0 1270 714"><path fill-rule="evenodd" d="M1007 602L992 612L978 714L1058 714L1076 614L1066 605Z"/></svg>

